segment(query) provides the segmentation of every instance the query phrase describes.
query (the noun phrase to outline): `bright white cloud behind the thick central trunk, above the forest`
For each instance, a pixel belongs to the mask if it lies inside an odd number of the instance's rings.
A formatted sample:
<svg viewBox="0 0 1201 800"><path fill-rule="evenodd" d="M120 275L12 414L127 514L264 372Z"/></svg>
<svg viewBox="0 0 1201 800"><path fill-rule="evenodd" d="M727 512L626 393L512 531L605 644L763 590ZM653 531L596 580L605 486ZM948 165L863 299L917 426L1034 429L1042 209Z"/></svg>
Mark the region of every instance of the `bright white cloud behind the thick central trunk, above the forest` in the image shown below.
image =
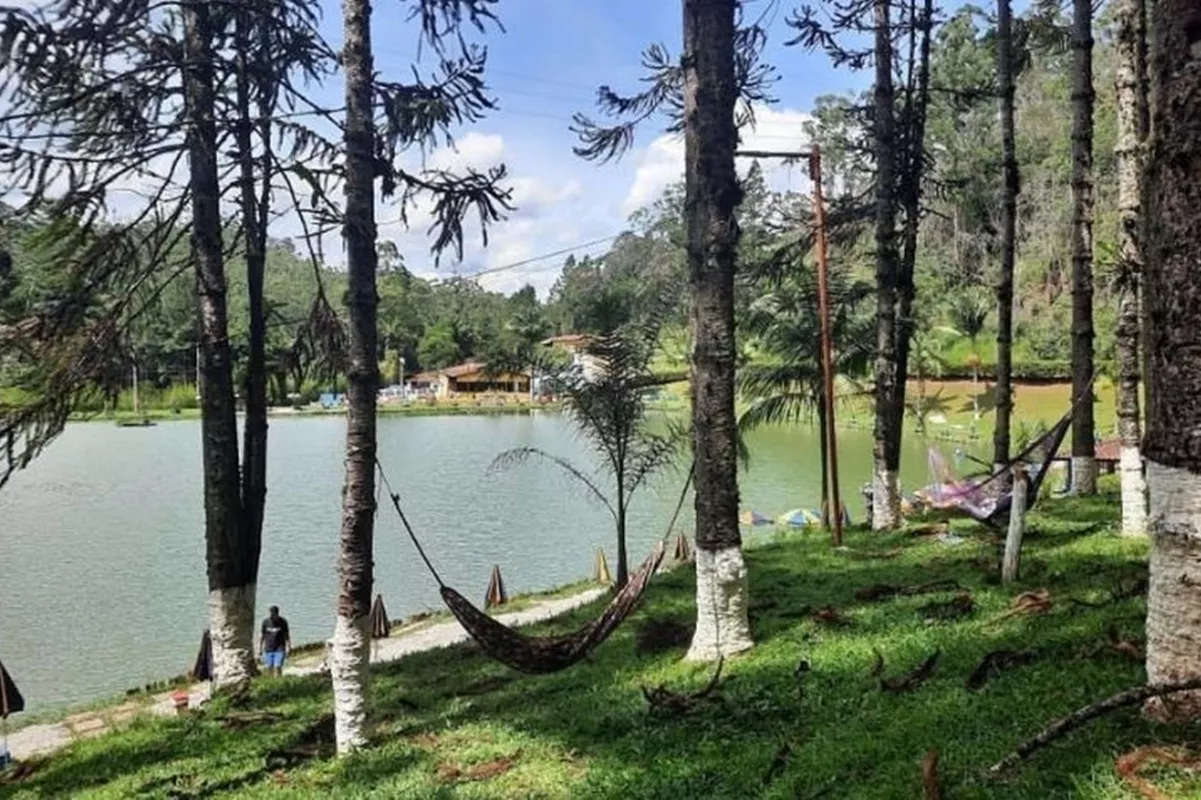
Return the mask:
<svg viewBox="0 0 1201 800"><path fill-rule="evenodd" d="M808 143L808 138L805 136L805 123L812 117L805 112L757 106L754 117L754 126L746 126L741 131L740 149L795 151L805 148ZM749 163L749 160L740 159L740 172L747 169ZM794 183L795 189L799 191L802 189L795 186L795 179L796 173L803 174L803 171L784 167L778 161L772 160L763 160L761 163L772 185L783 189L787 187L784 184ZM621 207L622 213L628 216L638 209L650 205L663 193L663 190L682 178L683 137L665 133L651 142L638 160L634 181Z"/></svg>

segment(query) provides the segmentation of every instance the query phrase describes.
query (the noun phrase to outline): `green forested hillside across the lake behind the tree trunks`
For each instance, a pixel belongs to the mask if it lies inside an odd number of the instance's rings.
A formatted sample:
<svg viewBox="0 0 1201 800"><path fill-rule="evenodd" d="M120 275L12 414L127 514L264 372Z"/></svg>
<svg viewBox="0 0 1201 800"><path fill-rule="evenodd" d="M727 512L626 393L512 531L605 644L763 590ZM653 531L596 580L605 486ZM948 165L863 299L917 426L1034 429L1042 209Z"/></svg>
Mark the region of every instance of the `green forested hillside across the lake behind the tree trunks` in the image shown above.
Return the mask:
<svg viewBox="0 0 1201 800"><path fill-rule="evenodd" d="M1111 8L1098 19L1094 50L1094 79L1103 86L1111 85L1115 76ZM1063 26L1066 20L1048 24ZM1071 139L1060 112L1070 102L1071 58L1062 42L1039 41L1038 26L1033 36L1027 34L1021 44L1016 76L1016 154L1018 172L1026 178L1017 208L1012 369L1017 378L1066 380L1070 348L1062 334L1070 323L1071 204L1064 187L1071 177ZM915 327L919 359L931 377L969 377L976 360L979 375L996 374L997 315L990 287L999 264L1002 154L993 100L994 37L988 14L967 6L939 25L931 49L931 80L937 91L931 95L926 131L931 168L924 177L927 201L914 302L920 315ZM864 102L854 96L819 97L815 120L806 132L826 154L826 180L835 203L850 204L871 185L864 129L855 124L855 108ZM1118 214L1112 92L1099 92L1095 114L1095 348L1100 368L1115 372ZM740 259L740 324L748 321L752 302L770 291L766 264L779 257L773 251L807 226L808 214L807 197L772 191L754 162L745 191L739 209L745 250ZM545 336L599 333L627 322L637 316L643 293L670 293L682 299L687 292L682 196L682 184L673 186L655 204L637 211L628 231L603 255L579 259L568 255L545 298L536 297L532 288L500 297L482 288L478 280L450 271L447 277L416 277L416 265L401 263L395 246L381 243L380 360L384 375L395 380L398 357L404 358L408 372L470 358L528 362L531 346ZM2 237L11 258L5 314L19 318L62 287L55 283L53 250L38 255L53 249L53 234L40 235L37 222L29 223L11 208L4 220ZM846 225L835 250L835 269L843 271L847 281L870 282L868 220L861 216ZM237 258L235 237L229 239L231 256ZM751 252L752 247L758 252ZM318 291L325 292L334 312L345 321L345 273L318 264L315 274L303 249L303 243L270 240L267 250L267 358L271 402L279 405L293 392L311 400L319 387L334 386L340 374L336 364L327 364L312 347L307 322ZM785 255L800 268L807 253L791 250ZM247 304L241 270L231 273L229 289L234 358L244 369ZM186 274L156 286L123 340L126 364L114 364L110 380L116 386L127 383L127 365L137 362L143 380L160 388L195 386L198 329L193 305ZM852 312L870 316L866 298ZM682 332L685 324L681 311L673 327ZM754 352L751 330L740 339L740 347L747 358ZM916 368L910 368L912 375ZM11 359L6 360L2 383L20 386L18 366ZM189 392L179 395L184 407L195 405Z"/></svg>

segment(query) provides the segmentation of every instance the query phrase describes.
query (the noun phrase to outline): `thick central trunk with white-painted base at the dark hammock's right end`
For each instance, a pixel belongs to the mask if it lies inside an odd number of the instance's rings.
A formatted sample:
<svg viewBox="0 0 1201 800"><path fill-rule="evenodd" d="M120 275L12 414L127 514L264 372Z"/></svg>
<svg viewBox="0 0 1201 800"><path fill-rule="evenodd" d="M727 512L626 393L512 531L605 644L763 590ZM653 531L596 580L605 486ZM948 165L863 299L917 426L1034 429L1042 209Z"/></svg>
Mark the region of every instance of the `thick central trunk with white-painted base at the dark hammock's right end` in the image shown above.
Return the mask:
<svg viewBox="0 0 1201 800"><path fill-rule="evenodd" d="M687 658L751 647L739 536L734 268L735 0L683 0L685 215L692 282L697 632Z"/></svg>

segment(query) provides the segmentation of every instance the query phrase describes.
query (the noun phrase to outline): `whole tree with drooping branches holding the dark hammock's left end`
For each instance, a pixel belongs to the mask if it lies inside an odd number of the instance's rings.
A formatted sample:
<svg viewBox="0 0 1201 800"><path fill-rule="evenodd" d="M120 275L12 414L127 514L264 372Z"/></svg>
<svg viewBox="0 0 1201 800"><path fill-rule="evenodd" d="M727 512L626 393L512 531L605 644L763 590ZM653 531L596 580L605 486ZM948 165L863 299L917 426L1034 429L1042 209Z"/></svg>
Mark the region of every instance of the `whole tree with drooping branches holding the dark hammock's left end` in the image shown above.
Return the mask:
<svg viewBox="0 0 1201 800"><path fill-rule="evenodd" d="M508 195L498 186L504 177L501 167L488 174L468 172L455 177L444 171L414 174L395 163L402 150L435 144L448 137L450 125L476 121L491 108L483 83L484 54L459 36L464 23L483 30L485 23L494 20L490 5L489 0L422 0L414 16L422 24L425 43L441 56L441 73L435 82L400 85L378 80L374 74L370 0L342 2L346 208L341 219L348 271L349 368L337 614L329 649L339 753L352 752L366 742L380 384L375 180L381 177L386 197L400 192L402 209L422 195L434 201L435 255L449 246L462 255L462 220L467 214L474 214L488 226L508 208ZM464 47L456 58L444 52L448 37Z"/></svg>

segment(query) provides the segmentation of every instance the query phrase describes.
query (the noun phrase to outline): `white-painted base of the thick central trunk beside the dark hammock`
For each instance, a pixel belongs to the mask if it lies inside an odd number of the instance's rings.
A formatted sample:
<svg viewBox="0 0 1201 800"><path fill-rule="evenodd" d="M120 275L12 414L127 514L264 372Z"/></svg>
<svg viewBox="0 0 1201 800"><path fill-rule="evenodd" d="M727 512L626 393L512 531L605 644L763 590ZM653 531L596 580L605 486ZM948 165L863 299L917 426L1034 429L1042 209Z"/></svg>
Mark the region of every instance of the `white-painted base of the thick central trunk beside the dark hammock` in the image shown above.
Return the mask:
<svg viewBox="0 0 1201 800"><path fill-rule="evenodd" d="M717 661L749 650L749 590L742 548L697 548L697 632L685 661Z"/></svg>

